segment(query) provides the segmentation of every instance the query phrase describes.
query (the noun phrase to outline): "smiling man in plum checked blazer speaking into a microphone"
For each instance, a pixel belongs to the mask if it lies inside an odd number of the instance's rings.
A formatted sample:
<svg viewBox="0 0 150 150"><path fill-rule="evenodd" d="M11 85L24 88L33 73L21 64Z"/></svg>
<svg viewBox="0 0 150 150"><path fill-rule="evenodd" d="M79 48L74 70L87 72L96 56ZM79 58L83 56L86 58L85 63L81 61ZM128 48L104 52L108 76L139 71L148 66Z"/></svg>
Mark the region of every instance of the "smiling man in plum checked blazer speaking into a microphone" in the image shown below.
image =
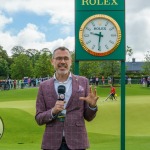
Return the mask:
<svg viewBox="0 0 150 150"><path fill-rule="evenodd" d="M84 119L91 121L97 112L96 89L89 87L88 79L70 72L72 59L65 47L54 50L54 76L40 84L35 119L46 124L43 150L85 150L89 147ZM58 100L58 87L65 86L65 100ZM66 110L66 111L64 111ZM60 112L65 118L60 118Z"/></svg>

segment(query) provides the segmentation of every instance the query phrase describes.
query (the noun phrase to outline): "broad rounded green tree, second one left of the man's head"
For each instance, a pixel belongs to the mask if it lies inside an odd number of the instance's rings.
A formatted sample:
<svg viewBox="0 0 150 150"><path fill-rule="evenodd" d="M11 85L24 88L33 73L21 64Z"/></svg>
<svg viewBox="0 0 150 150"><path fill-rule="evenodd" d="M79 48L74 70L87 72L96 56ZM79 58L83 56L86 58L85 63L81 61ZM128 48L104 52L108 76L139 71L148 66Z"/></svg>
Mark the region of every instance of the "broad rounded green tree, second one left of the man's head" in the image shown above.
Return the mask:
<svg viewBox="0 0 150 150"><path fill-rule="evenodd" d="M20 54L14 58L14 63L11 65L11 77L13 79L22 79L23 77L33 76L32 62L25 54Z"/></svg>

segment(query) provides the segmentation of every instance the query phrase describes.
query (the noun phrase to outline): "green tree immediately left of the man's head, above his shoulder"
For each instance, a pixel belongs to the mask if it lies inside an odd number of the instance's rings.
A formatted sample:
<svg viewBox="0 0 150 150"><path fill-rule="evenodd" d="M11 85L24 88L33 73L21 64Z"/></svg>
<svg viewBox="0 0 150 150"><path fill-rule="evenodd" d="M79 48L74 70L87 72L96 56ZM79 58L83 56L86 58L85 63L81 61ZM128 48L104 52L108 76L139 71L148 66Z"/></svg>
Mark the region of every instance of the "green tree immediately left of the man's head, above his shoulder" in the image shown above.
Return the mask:
<svg viewBox="0 0 150 150"><path fill-rule="evenodd" d="M40 55L39 59L35 63L34 75L35 77L47 77L52 76L54 73L53 66L50 63L51 58L47 53Z"/></svg>

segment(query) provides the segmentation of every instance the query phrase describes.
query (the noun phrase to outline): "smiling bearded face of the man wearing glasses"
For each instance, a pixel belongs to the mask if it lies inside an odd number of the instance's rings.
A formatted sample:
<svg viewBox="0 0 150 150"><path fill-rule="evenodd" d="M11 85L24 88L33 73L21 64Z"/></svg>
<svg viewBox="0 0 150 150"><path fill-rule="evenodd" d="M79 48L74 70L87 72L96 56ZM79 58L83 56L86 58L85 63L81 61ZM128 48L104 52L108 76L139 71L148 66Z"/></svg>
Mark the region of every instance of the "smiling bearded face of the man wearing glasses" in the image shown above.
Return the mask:
<svg viewBox="0 0 150 150"><path fill-rule="evenodd" d="M67 50L57 50L54 53L54 58L52 59L52 64L56 73L58 75L65 75L70 71L70 67L72 64L72 59Z"/></svg>

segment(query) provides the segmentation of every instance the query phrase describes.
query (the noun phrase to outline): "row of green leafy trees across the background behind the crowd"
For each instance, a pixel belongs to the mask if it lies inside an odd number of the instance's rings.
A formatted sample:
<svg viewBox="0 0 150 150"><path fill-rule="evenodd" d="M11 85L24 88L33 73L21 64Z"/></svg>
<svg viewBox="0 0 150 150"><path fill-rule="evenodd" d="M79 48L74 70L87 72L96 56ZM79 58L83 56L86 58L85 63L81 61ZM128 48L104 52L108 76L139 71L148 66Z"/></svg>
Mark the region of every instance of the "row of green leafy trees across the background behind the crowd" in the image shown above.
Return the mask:
<svg viewBox="0 0 150 150"><path fill-rule="evenodd" d="M23 56L24 55L24 56ZM133 55L133 49L130 46L126 48L126 55L130 58ZM19 58L18 58L19 57ZM7 52L0 46L0 77L20 79L24 76L46 77L52 76L54 69L50 63L52 52L48 48L41 50L25 49L22 46L12 48L12 56L8 57ZM75 72L75 52L72 52L71 71ZM30 69L30 71L28 70ZM145 55L143 65L143 74L150 74L150 53ZM20 70L20 71L19 71ZM80 75L90 77L120 76L120 62L118 61L80 61Z"/></svg>

